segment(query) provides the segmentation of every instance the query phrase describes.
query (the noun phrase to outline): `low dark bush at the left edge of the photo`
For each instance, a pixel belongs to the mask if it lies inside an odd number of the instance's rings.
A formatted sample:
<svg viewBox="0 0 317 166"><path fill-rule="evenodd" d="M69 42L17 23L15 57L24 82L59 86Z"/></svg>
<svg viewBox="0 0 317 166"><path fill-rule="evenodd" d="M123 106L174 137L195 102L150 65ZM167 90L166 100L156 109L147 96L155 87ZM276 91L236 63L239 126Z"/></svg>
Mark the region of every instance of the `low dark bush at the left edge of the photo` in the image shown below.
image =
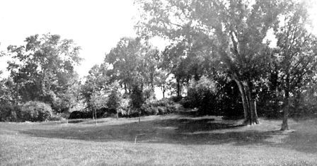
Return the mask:
<svg viewBox="0 0 317 166"><path fill-rule="evenodd" d="M21 107L0 105L0 121L20 121Z"/></svg>

